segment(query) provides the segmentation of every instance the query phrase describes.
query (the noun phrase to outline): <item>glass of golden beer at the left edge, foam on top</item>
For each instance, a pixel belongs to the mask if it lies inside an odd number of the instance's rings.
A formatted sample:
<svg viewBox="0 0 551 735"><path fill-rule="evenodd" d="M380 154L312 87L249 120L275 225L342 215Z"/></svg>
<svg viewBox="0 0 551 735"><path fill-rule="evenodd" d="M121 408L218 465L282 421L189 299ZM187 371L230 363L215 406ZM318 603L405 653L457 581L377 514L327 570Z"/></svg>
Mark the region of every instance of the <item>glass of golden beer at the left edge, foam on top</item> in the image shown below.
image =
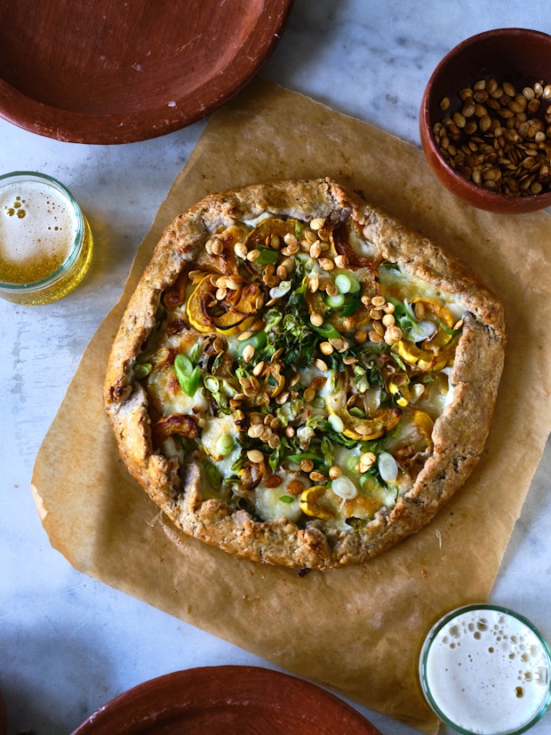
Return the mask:
<svg viewBox="0 0 551 735"><path fill-rule="evenodd" d="M45 173L0 176L0 297L47 304L72 291L92 260L92 232L68 188Z"/></svg>

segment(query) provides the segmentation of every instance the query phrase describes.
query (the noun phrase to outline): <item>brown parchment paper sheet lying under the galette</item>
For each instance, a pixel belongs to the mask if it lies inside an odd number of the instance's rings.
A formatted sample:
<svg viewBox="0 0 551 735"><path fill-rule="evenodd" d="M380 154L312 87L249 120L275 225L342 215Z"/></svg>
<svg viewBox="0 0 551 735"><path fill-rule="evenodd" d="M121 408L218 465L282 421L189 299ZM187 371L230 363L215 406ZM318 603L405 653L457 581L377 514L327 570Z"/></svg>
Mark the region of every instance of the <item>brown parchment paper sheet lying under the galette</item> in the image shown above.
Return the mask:
<svg viewBox="0 0 551 735"><path fill-rule="evenodd" d="M361 189L466 260L499 294L508 341L491 434L463 490L387 554L299 577L238 560L165 521L126 474L101 393L126 300L174 217L212 191L321 176ZM33 490L52 546L93 578L435 733L438 723L419 691L421 639L443 612L487 598L549 432L550 243L545 212L503 216L461 204L418 148L257 80L206 126L44 439Z"/></svg>

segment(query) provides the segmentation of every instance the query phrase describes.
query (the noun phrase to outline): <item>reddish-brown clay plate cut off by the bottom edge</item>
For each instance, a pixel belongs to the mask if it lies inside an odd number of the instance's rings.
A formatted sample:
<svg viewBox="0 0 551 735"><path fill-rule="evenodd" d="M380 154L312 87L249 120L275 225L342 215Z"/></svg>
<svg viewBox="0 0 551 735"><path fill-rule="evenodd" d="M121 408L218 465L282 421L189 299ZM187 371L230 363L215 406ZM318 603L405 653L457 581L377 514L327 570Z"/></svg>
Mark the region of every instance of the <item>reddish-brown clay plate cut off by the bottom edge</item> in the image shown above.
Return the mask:
<svg viewBox="0 0 551 735"><path fill-rule="evenodd" d="M191 668L112 699L72 735L380 735L346 702L267 668Z"/></svg>

